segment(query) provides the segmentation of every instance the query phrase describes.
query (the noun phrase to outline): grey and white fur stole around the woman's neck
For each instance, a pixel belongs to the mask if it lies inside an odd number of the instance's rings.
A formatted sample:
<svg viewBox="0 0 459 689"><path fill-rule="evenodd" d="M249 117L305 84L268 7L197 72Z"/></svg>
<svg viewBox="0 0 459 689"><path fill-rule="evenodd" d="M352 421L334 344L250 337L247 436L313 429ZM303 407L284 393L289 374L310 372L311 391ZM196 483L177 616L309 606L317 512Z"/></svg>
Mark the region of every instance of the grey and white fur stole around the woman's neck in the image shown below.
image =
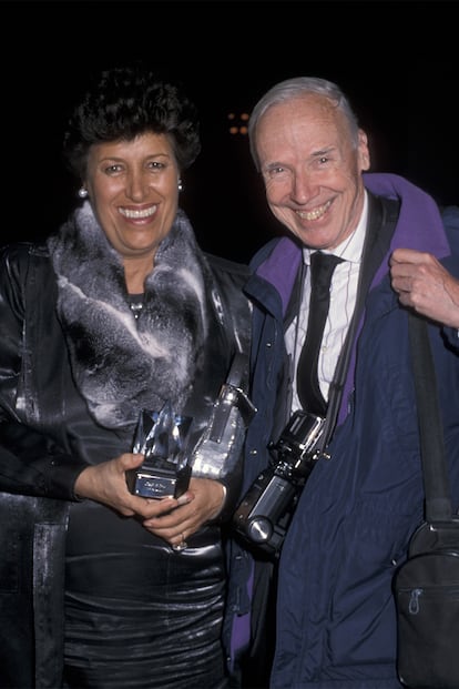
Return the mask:
<svg viewBox="0 0 459 689"><path fill-rule="evenodd" d="M95 421L134 427L142 408L161 409L167 401L180 413L200 376L217 298L183 211L157 250L137 321L121 256L89 202L48 245L73 377Z"/></svg>

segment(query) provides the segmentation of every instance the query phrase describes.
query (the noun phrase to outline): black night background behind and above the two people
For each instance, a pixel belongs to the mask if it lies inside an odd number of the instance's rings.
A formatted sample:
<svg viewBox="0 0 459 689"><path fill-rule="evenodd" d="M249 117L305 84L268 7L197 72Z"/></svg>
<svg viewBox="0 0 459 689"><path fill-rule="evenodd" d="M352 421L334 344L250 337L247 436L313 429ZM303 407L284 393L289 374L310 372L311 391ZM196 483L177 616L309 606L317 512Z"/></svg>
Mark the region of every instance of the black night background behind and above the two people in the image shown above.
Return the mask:
<svg viewBox="0 0 459 689"><path fill-rule="evenodd" d="M185 83L203 152L181 202L204 249L247 261L278 232L247 138L228 133L275 82L337 81L367 130L373 171L459 203L458 2L123 0L0 2L1 243L41 239L76 189L60 158L91 71L144 59Z"/></svg>

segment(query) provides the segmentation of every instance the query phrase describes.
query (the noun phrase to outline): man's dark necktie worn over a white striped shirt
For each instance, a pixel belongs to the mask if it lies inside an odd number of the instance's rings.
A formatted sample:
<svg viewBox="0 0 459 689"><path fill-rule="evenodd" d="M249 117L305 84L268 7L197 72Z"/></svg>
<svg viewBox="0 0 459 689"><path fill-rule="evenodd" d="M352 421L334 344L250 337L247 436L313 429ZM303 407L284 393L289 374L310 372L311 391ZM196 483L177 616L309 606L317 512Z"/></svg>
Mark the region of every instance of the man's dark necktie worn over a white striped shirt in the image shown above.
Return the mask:
<svg viewBox="0 0 459 689"><path fill-rule="evenodd" d="M310 256L310 301L306 338L298 362L296 387L305 411L325 416L327 405L320 393L317 362L330 304L332 275L343 259L316 251Z"/></svg>

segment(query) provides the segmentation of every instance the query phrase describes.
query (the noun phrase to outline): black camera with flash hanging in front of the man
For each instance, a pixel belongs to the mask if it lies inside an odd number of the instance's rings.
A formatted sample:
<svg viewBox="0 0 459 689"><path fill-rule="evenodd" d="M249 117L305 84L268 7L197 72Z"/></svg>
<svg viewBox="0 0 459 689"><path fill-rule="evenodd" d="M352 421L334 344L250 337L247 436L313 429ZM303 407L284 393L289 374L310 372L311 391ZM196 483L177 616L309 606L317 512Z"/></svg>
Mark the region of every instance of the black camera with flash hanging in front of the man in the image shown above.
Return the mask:
<svg viewBox="0 0 459 689"><path fill-rule="evenodd" d="M303 487L322 450L317 443L325 418L295 412L276 444L272 460L238 505L233 526L261 554L278 557Z"/></svg>

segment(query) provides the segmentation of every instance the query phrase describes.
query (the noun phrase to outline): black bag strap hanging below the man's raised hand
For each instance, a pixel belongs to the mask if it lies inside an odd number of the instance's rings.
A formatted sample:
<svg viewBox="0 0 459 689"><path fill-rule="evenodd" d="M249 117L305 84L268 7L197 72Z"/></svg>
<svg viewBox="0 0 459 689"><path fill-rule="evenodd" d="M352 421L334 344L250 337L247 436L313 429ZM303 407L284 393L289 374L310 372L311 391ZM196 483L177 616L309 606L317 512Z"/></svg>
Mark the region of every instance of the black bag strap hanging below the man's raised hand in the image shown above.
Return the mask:
<svg viewBox="0 0 459 689"><path fill-rule="evenodd" d="M408 324L426 494L426 521L449 521L452 514L451 498L429 333L426 321L415 313L408 314Z"/></svg>

